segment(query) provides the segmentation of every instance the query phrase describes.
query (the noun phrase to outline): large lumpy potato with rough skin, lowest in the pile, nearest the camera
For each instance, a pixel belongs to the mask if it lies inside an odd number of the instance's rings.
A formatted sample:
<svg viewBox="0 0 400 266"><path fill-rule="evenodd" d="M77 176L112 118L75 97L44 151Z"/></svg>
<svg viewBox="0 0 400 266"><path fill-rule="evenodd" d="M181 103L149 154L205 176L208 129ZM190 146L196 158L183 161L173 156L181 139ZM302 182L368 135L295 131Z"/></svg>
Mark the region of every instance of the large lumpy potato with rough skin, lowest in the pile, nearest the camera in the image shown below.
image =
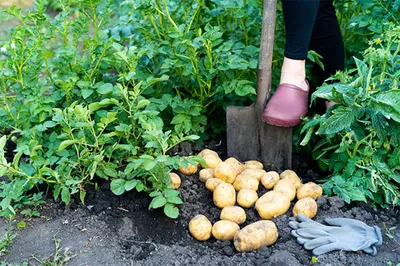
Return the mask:
<svg viewBox="0 0 400 266"><path fill-rule="evenodd" d="M272 221L258 221L245 226L233 238L233 244L238 252L247 252L270 246L278 239L278 229Z"/></svg>

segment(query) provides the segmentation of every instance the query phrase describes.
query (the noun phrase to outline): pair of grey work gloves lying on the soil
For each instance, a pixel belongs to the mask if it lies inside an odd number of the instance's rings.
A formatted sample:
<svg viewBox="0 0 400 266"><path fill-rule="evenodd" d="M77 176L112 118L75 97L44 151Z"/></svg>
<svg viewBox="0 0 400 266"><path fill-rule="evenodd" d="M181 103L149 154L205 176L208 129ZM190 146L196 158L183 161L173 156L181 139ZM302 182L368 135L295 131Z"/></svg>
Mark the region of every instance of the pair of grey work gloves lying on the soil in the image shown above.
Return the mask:
<svg viewBox="0 0 400 266"><path fill-rule="evenodd" d="M376 255L377 246L382 245L382 233L378 226L368 226L354 219L325 219L331 226L315 222L303 214L296 221L289 222L292 235L297 242L312 250L316 256L333 251L359 251Z"/></svg>

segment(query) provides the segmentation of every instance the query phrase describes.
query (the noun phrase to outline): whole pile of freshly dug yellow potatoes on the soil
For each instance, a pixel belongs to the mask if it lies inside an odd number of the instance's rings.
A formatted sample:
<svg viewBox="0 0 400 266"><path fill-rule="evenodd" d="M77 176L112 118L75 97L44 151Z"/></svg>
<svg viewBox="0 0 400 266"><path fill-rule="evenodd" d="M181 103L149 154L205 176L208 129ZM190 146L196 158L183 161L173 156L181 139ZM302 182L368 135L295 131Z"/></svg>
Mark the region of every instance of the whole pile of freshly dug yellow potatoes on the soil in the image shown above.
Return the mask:
<svg viewBox="0 0 400 266"><path fill-rule="evenodd" d="M222 161L215 151L209 149L200 152L199 156L208 165L200 171L200 181L213 192L213 202L221 209L220 221L214 225L204 215L197 215L190 221L189 231L199 241L212 235L218 240L233 240L237 251L246 252L276 242L278 230L270 220L286 213L295 198L294 216L302 213L313 218L317 214L316 199L322 195L322 188L313 182L302 184L292 170L279 174L266 172L258 161L243 164L233 157ZM186 175L194 174L197 166L189 165L179 171ZM174 182L172 178L171 181ZM261 197L258 196L260 184L268 190ZM246 221L244 208L253 207L262 220L240 229L239 225Z"/></svg>

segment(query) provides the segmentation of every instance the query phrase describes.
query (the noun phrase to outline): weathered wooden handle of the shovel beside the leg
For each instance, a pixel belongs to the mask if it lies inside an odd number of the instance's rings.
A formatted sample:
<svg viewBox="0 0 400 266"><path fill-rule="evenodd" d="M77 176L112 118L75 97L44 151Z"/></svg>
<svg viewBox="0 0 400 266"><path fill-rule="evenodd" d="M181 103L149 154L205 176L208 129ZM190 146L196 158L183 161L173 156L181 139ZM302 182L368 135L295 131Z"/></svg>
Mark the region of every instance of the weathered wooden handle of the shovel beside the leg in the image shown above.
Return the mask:
<svg viewBox="0 0 400 266"><path fill-rule="evenodd" d="M277 0L264 0L260 57L257 73L257 100L256 108L263 109L271 96L272 54L275 37Z"/></svg>

